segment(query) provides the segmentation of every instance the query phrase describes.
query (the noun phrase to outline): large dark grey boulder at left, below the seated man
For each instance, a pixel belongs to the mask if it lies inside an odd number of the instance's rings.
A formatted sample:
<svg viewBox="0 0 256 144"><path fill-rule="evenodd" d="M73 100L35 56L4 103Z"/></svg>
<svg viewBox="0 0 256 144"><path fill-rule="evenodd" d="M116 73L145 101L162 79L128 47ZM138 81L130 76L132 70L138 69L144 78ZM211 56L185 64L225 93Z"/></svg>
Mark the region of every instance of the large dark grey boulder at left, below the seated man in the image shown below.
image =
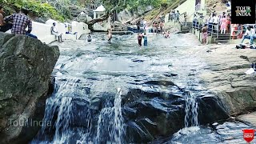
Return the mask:
<svg viewBox="0 0 256 144"><path fill-rule="evenodd" d="M28 143L38 133L58 57L58 46L0 34L0 143Z"/></svg>

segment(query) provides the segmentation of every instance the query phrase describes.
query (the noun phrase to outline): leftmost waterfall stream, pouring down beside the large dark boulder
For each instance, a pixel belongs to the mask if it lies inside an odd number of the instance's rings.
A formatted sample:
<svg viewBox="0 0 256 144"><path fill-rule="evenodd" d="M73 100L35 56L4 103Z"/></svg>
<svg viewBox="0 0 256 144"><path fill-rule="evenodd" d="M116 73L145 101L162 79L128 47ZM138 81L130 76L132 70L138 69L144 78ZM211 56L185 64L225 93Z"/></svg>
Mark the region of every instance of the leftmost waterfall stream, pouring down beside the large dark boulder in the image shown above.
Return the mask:
<svg viewBox="0 0 256 144"><path fill-rule="evenodd" d="M53 139L53 143L69 142L69 138L72 136L70 126L73 118L72 99L77 81L78 79L69 79L59 87L55 85L54 94L46 100L42 129L31 143L44 143L43 141L49 141L49 139ZM54 118L55 115L57 115L57 119ZM49 123L50 125L46 125ZM48 133L54 130L54 138L50 138Z"/></svg>

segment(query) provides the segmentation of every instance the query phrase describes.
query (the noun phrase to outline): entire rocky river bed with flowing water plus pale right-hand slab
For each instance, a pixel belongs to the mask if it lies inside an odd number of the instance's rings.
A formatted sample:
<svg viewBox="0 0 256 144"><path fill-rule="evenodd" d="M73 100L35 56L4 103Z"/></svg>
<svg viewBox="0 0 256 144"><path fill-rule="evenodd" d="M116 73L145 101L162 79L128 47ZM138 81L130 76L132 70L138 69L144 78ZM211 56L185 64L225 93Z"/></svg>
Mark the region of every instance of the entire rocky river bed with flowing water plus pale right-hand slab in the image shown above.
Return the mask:
<svg viewBox="0 0 256 144"><path fill-rule="evenodd" d="M232 117L254 110L255 77L244 74L253 50L200 46L192 34L149 35L147 47L136 35L105 37L52 44L61 50L46 101L52 125L31 143L245 142L254 126ZM247 89L250 105L235 98Z"/></svg>

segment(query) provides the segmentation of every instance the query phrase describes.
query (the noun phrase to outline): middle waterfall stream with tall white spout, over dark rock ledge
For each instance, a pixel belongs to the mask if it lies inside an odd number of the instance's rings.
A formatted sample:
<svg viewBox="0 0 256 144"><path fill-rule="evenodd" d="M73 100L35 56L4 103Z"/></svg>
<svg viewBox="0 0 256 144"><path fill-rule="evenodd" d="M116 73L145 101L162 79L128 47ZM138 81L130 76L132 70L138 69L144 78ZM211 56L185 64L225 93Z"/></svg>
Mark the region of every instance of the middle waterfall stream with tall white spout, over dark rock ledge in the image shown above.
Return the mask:
<svg viewBox="0 0 256 144"><path fill-rule="evenodd" d="M98 129L96 143L124 143L125 128L122 118L122 91L118 88L118 93L114 98L113 107L105 107L98 117Z"/></svg>

